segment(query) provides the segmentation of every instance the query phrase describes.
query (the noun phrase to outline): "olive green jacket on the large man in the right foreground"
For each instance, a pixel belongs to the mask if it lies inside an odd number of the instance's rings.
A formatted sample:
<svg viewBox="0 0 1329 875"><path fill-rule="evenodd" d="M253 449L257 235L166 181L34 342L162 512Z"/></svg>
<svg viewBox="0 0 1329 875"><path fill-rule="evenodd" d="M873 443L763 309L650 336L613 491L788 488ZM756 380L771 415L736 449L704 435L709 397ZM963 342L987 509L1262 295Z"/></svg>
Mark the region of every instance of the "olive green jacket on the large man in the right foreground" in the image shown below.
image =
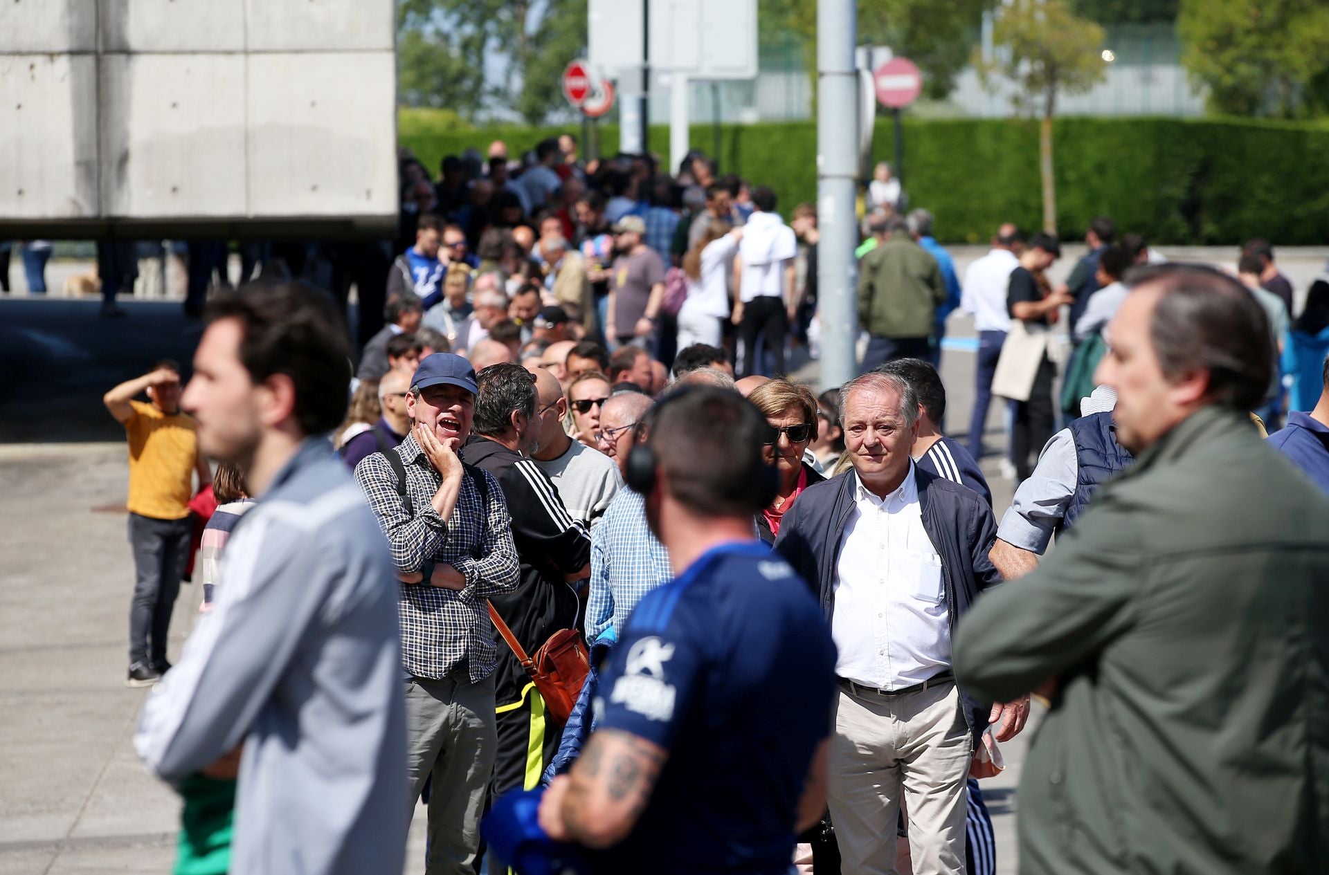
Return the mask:
<svg viewBox="0 0 1329 875"><path fill-rule="evenodd" d="M1021 872L1329 871L1329 499L1209 408L957 629L968 689L1059 678Z"/></svg>

